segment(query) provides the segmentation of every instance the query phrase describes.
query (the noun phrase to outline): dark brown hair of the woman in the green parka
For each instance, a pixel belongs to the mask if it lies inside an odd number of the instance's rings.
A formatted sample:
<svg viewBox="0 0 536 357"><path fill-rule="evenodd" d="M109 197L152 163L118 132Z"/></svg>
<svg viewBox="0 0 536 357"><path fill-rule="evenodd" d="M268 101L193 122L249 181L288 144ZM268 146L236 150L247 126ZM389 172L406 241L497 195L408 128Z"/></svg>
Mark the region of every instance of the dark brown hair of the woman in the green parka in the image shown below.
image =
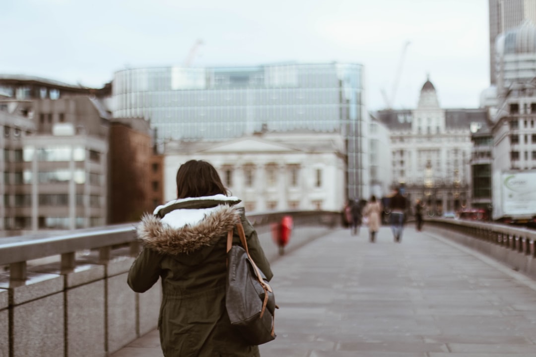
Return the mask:
<svg viewBox="0 0 536 357"><path fill-rule="evenodd" d="M190 160L177 170L177 199L227 195L218 171L203 160Z"/></svg>

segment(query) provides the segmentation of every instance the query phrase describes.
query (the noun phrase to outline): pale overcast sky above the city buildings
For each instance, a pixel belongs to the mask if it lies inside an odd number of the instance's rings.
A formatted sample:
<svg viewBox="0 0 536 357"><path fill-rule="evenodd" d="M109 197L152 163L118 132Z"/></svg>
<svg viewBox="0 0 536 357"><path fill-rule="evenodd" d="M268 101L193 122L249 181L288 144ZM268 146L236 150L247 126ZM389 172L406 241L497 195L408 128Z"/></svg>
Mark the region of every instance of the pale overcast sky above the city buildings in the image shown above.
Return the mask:
<svg viewBox="0 0 536 357"><path fill-rule="evenodd" d="M488 0L1 0L0 73L102 87L117 70L273 62L364 65L368 110L415 108L427 73L443 108L489 86Z"/></svg>

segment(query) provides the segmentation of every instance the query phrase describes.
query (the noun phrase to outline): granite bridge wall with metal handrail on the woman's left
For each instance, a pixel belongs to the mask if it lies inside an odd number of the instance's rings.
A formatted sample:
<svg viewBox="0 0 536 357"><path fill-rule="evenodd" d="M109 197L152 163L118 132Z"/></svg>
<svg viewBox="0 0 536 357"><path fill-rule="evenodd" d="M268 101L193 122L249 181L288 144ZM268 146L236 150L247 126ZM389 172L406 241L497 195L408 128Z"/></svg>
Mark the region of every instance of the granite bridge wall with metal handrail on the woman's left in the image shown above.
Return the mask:
<svg viewBox="0 0 536 357"><path fill-rule="evenodd" d="M339 224L338 212L249 215L270 260L271 227L294 218L295 249ZM0 238L0 356L107 356L155 329L160 284L137 294L126 276L140 245L135 224L61 235Z"/></svg>

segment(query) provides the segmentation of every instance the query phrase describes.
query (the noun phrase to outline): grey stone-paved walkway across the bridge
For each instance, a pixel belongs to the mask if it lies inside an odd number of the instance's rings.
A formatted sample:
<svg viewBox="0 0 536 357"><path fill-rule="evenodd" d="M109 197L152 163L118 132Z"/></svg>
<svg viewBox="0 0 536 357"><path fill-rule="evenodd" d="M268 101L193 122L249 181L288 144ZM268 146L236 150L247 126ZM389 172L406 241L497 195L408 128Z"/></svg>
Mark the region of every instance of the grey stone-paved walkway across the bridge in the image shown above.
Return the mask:
<svg viewBox="0 0 536 357"><path fill-rule="evenodd" d="M427 231L428 229L428 231ZM333 231L272 264L263 357L534 357L536 282L425 227ZM113 357L162 356L158 333Z"/></svg>

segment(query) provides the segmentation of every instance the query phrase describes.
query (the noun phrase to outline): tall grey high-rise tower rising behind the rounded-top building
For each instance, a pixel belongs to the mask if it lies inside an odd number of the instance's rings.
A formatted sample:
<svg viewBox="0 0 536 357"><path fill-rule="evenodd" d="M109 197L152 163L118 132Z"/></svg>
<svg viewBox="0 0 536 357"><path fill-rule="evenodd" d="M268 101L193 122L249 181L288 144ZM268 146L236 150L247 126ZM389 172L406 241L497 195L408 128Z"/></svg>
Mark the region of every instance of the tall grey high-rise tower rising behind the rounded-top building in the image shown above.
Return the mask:
<svg viewBox="0 0 536 357"><path fill-rule="evenodd" d="M496 39L530 20L536 24L536 0L489 0L489 74L492 85L496 83Z"/></svg>

